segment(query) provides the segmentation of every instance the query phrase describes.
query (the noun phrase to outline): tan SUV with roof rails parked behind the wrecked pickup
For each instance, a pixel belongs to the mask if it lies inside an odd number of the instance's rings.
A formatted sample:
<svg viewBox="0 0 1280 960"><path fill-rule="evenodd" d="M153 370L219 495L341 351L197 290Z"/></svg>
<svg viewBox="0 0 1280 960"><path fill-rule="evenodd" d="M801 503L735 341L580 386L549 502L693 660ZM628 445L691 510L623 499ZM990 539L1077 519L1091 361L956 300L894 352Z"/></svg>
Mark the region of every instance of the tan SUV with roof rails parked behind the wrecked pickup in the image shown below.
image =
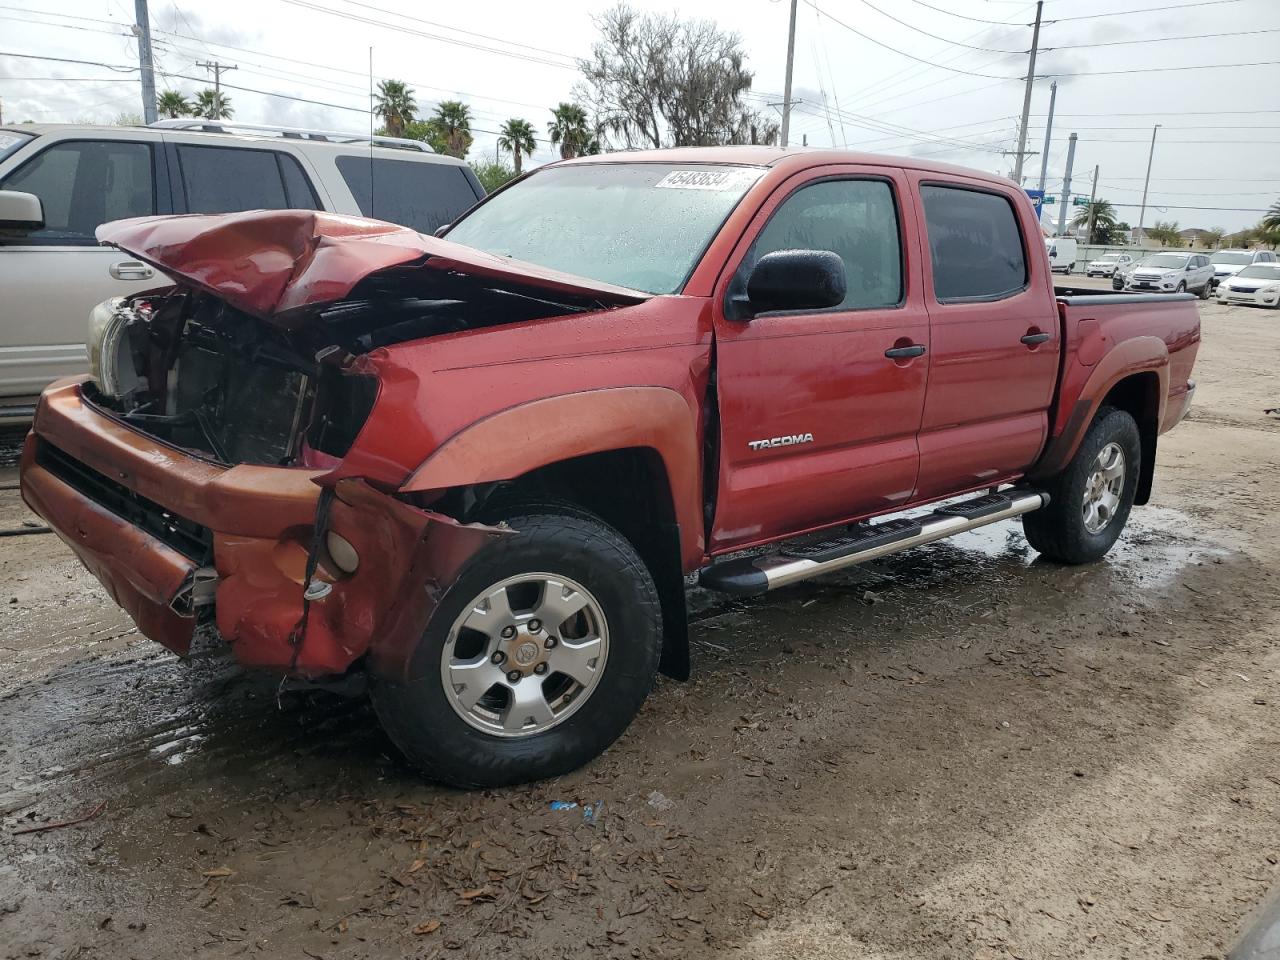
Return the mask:
<svg viewBox="0 0 1280 960"><path fill-rule="evenodd" d="M483 196L466 163L417 141L205 120L0 127L0 424L88 369L93 306L164 283L97 246L102 223L303 209L431 233Z"/></svg>

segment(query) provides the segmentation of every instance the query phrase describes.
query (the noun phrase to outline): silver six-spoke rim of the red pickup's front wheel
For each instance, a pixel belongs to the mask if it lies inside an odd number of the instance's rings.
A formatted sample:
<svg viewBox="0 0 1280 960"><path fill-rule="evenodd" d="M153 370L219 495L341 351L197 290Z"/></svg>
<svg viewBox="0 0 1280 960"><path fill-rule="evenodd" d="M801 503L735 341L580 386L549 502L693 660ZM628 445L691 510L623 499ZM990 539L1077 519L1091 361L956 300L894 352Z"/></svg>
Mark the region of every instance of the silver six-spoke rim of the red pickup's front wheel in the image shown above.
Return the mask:
<svg viewBox="0 0 1280 960"><path fill-rule="evenodd" d="M604 611L586 588L554 573L522 573L490 586L453 622L440 682L476 730L531 736L586 703L608 652Z"/></svg>

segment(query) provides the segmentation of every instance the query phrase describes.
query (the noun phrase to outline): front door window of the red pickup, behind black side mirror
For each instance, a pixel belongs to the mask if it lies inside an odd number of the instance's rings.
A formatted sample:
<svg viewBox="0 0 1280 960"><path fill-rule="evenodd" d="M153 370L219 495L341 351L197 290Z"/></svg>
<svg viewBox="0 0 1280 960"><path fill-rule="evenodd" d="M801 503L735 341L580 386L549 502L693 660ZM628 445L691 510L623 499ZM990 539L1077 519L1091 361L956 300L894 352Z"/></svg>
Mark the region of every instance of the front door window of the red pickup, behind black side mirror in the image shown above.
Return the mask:
<svg viewBox="0 0 1280 960"><path fill-rule="evenodd" d="M849 289L835 310L892 307L902 301L902 244L893 191L884 180L823 180L787 197L760 230L735 287L780 250L826 250L845 261ZM739 291L730 291L731 298Z"/></svg>

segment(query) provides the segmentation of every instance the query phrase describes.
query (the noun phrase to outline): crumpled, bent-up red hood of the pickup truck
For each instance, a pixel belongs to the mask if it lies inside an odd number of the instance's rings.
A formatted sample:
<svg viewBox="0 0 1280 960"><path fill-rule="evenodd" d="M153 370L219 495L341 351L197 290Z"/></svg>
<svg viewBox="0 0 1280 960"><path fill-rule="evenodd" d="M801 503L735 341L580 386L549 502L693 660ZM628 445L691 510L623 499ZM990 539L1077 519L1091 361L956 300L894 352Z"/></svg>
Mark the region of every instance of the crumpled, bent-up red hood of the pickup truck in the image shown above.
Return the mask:
<svg viewBox="0 0 1280 960"><path fill-rule="evenodd" d="M398 266L474 276L532 296L589 298L603 306L650 297L381 220L310 210L141 216L99 227L97 239L283 326L296 326L371 274Z"/></svg>

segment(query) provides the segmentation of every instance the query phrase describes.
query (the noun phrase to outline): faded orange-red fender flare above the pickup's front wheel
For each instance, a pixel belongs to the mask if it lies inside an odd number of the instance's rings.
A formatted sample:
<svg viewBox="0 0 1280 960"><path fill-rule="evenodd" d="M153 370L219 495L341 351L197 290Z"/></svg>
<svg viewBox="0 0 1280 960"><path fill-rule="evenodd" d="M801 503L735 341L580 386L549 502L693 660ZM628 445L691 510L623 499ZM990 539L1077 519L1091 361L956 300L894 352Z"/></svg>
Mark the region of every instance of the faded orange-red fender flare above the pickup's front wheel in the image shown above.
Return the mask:
<svg viewBox="0 0 1280 960"><path fill-rule="evenodd" d="M618 387L530 401L460 430L413 471L401 493L515 480L550 463L628 448L662 458L685 568L701 562L698 412L666 387Z"/></svg>

